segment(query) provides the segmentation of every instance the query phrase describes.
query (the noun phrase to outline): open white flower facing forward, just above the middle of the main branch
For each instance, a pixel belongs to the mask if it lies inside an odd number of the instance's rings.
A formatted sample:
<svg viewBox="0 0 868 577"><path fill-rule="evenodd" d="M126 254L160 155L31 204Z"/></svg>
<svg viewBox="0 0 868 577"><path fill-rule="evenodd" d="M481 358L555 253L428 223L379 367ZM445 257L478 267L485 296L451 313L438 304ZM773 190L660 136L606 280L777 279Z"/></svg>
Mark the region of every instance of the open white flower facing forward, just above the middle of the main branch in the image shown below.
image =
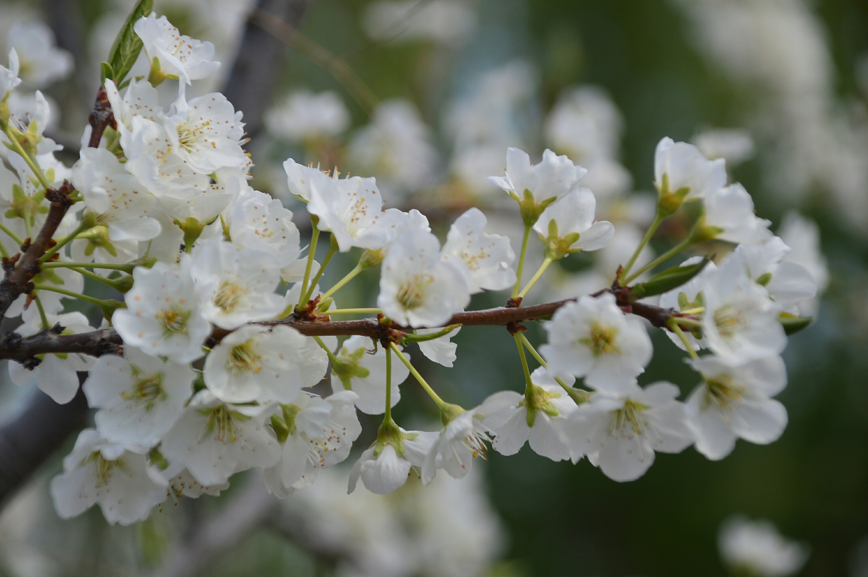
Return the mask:
<svg viewBox="0 0 868 577"><path fill-rule="evenodd" d="M464 272L440 259L437 237L411 228L383 259L377 305L400 325L442 326L470 302Z"/></svg>

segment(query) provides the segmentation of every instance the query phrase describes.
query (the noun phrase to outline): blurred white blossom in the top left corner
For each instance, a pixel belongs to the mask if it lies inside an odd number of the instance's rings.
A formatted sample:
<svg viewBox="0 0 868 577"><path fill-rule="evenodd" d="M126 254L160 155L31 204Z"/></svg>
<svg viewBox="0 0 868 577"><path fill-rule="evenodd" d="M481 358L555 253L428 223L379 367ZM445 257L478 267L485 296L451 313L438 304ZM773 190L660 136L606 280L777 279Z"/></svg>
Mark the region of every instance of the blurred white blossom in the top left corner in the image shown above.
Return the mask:
<svg viewBox="0 0 868 577"><path fill-rule="evenodd" d="M16 22L7 39L20 62L24 83L42 89L69 75L74 62L69 50L57 48L54 32L42 22Z"/></svg>

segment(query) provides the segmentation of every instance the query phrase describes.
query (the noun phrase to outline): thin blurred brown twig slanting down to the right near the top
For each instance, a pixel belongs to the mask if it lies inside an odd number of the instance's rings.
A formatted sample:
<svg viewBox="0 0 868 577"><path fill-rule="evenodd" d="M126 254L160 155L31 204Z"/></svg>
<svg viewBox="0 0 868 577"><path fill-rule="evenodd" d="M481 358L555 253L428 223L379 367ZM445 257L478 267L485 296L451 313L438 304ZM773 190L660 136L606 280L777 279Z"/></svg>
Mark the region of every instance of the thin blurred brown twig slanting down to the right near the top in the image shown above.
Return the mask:
<svg viewBox="0 0 868 577"><path fill-rule="evenodd" d="M299 54L306 56L320 68L327 70L334 76L335 80L340 82L340 85L352 96L352 99L358 103L366 115L371 116L374 108L377 108L379 104L377 95L368 88L365 81L350 68L350 65L318 43L313 42L309 37L299 32L295 26L260 9L253 10L250 22L260 26L262 30L278 38L280 42L296 49Z"/></svg>

